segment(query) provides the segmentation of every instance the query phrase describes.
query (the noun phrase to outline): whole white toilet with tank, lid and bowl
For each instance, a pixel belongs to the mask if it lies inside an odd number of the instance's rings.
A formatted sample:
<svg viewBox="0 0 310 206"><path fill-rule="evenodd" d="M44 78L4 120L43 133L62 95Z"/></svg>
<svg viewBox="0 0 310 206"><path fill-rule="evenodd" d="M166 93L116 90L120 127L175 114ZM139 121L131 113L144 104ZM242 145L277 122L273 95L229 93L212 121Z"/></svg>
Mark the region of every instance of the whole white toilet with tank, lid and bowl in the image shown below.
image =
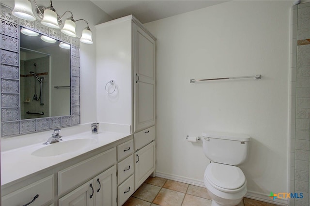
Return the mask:
<svg viewBox="0 0 310 206"><path fill-rule="evenodd" d="M204 185L212 198L211 206L236 206L247 193L247 179L236 165L248 154L250 137L244 134L203 132L202 146L211 161L204 172Z"/></svg>

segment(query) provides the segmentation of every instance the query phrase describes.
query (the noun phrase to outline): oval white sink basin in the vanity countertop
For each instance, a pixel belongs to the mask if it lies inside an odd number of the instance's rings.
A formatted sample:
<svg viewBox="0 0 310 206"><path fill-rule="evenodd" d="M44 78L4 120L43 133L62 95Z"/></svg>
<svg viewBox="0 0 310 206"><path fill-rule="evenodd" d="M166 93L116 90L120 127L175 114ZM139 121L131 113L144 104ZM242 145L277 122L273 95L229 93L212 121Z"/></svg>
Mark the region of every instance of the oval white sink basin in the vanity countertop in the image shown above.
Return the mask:
<svg viewBox="0 0 310 206"><path fill-rule="evenodd" d="M95 142L96 140L87 138L56 142L35 150L34 152L31 153L31 155L38 157L50 157L66 154L86 148Z"/></svg>

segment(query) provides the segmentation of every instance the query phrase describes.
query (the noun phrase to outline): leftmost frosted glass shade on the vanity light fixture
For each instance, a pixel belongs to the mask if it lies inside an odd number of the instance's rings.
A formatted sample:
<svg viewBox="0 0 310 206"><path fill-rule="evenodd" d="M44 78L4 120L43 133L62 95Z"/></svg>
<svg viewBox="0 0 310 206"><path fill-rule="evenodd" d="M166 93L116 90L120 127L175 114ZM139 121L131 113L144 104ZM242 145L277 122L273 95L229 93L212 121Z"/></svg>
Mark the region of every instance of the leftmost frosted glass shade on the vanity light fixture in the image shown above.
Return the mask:
<svg viewBox="0 0 310 206"><path fill-rule="evenodd" d="M32 12L31 2L29 0L16 0L12 15L24 20L36 20Z"/></svg>

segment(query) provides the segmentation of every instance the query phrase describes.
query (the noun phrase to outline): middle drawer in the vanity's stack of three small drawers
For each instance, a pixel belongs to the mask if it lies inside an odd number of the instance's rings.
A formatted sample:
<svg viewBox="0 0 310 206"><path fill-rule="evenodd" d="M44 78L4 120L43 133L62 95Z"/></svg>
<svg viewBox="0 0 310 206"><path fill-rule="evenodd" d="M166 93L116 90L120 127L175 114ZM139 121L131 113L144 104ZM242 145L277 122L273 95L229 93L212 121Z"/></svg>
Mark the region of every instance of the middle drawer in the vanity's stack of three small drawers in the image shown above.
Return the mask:
<svg viewBox="0 0 310 206"><path fill-rule="evenodd" d="M117 183L122 183L126 178L134 173L134 155L130 155L117 164Z"/></svg>

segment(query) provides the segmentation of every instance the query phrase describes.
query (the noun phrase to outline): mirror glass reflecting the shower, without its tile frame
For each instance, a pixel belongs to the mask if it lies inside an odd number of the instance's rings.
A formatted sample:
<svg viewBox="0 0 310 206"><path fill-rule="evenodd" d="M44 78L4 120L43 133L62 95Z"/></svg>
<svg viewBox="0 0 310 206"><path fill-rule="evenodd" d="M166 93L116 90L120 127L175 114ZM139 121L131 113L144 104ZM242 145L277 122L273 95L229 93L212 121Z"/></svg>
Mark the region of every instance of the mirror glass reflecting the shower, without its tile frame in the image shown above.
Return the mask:
<svg viewBox="0 0 310 206"><path fill-rule="evenodd" d="M70 45L20 31L21 119L70 115Z"/></svg>

